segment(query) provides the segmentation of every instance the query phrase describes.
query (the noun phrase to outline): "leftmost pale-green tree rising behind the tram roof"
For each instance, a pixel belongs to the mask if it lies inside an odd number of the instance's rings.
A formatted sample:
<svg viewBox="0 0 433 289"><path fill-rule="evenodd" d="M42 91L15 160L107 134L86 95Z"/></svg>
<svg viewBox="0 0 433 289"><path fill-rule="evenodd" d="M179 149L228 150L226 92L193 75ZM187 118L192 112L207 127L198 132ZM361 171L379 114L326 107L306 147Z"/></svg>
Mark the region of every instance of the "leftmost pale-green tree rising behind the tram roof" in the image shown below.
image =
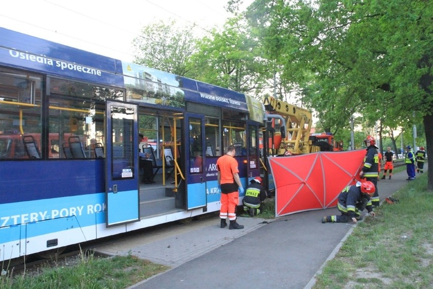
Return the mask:
<svg viewBox="0 0 433 289"><path fill-rule="evenodd" d="M190 57L196 51L193 33L194 25L179 28L174 20L144 26L132 43L134 63L188 77Z"/></svg>

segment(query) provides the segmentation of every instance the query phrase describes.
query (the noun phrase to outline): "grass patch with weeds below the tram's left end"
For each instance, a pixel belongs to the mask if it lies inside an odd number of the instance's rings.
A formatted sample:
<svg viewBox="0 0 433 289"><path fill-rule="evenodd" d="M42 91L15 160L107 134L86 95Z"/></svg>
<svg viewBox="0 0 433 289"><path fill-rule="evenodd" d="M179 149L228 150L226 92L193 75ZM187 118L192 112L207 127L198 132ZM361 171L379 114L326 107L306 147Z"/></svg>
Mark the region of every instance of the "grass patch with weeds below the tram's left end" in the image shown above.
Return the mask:
<svg viewBox="0 0 433 289"><path fill-rule="evenodd" d="M46 268L34 277L2 275L0 289L126 288L168 269L132 255L98 258L82 252L80 259L76 266Z"/></svg>

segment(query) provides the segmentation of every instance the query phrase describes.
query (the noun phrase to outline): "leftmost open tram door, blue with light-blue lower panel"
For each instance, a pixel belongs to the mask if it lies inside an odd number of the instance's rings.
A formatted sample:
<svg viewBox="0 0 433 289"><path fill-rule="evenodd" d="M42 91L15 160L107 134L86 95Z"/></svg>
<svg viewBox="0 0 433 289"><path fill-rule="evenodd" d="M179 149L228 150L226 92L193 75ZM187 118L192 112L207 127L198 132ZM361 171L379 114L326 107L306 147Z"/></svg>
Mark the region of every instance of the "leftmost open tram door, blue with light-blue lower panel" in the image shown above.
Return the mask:
<svg viewBox="0 0 433 289"><path fill-rule="evenodd" d="M106 225L139 221L138 106L106 103Z"/></svg>

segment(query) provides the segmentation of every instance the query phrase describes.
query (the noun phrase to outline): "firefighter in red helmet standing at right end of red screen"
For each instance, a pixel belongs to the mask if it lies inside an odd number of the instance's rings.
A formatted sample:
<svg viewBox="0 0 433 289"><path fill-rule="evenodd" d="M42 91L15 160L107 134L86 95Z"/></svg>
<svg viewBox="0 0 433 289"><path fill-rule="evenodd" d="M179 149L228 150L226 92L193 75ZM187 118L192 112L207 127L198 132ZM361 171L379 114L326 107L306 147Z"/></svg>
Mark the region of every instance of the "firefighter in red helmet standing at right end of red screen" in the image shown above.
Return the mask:
<svg viewBox="0 0 433 289"><path fill-rule="evenodd" d="M375 194L372 197L373 207L378 207L380 204L379 191L378 191L378 176L379 176L379 156L378 147L376 147L376 140L373 136L367 136L364 139L367 152L364 157L364 165L359 172L361 179L365 178L366 181L372 182L375 185Z"/></svg>

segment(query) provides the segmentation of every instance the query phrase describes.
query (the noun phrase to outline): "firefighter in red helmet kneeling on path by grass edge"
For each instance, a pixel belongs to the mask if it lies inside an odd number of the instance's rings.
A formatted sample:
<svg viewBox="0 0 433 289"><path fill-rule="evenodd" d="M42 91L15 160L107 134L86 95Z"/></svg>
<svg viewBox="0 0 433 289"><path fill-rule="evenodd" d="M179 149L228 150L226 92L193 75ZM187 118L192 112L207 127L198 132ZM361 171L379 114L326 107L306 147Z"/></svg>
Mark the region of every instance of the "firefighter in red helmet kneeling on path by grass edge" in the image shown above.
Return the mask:
<svg viewBox="0 0 433 289"><path fill-rule="evenodd" d="M356 224L364 209L367 209L371 216L375 216L370 200L370 196L373 196L375 191L376 188L372 182L357 182L356 185L347 186L338 195L338 210L342 214L325 216L322 218L322 223L347 223L352 219Z"/></svg>

